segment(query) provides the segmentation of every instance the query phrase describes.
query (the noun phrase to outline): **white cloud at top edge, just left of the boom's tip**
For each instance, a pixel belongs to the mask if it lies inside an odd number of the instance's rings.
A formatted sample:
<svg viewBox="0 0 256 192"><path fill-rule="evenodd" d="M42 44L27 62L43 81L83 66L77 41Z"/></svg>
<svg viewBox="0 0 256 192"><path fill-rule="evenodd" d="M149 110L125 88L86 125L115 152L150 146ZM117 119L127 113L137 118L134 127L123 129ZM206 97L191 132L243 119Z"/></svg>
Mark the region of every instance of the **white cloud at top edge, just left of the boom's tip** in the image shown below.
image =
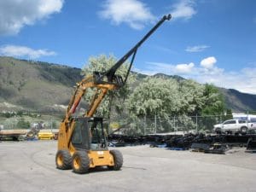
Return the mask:
<svg viewBox="0 0 256 192"><path fill-rule="evenodd" d="M145 23L155 19L147 5L138 0L107 0L99 15L115 25L125 23L134 29L142 29Z"/></svg>

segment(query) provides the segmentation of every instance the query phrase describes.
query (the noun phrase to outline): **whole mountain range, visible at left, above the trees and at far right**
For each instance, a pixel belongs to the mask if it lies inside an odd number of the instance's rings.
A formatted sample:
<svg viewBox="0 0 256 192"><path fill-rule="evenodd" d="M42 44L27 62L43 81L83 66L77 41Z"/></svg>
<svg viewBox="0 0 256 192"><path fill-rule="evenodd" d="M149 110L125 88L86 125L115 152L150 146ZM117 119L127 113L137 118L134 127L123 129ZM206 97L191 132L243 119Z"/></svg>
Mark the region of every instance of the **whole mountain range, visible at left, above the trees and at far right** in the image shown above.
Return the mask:
<svg viewBox="0 0 256 192"><path fill-rule="evenodd" d="M137 73L137 81L147 75ZM177 75L157 73L154 77L183 80ZM73 86L83 76L81 69L41 61L0 56L0 109L54 112L65 109ZM256 111L256 95L219 88L226 107L233 112Z"/></svg>

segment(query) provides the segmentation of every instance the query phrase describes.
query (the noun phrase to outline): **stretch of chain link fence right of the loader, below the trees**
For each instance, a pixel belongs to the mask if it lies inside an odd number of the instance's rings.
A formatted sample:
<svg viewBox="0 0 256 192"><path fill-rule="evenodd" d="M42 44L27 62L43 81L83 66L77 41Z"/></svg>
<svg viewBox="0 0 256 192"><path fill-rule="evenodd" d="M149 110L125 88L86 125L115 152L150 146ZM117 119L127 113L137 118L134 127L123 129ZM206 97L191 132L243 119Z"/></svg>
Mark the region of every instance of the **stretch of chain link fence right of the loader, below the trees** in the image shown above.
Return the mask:
<svg viewBox="0 0 256 192"><path fill-rule="evenodd" d="M173 116L169 118L144 117L142 119L110 119L110 131L125 135L148 135L160 133L212 132L213 125L223 122L224 117Z"/></svg>

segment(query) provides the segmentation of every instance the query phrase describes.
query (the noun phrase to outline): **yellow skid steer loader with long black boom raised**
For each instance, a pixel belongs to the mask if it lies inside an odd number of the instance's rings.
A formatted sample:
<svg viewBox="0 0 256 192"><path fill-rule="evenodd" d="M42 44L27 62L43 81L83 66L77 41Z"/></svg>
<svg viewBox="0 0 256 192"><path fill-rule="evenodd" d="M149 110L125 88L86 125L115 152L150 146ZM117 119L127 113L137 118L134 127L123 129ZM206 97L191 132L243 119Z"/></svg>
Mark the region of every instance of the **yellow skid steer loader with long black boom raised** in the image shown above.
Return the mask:
<svg viewBox="0 0 256 192"><path fill-rule="evenodd" d="M94 72L77 84L59 129L58 151L55 156L55 163L58 169L73 168L73 172L86 173L89 172L90 168L96 166L108 166L111 170L119 170L121 168L123 165L122 154L119 150L108 150L102 118L94 117L93 115L108 90L117 90L125 84L137 49L165 20L170 20L171 17L171 15L163 16L142 40L108 71L103 73ZM125 80L123 80L122 77L115 73L131 55L131 63L125 75ZM96 89L90 107L82 117L74 117L73 113L75 113L82 97L89 88Z"/></svg>

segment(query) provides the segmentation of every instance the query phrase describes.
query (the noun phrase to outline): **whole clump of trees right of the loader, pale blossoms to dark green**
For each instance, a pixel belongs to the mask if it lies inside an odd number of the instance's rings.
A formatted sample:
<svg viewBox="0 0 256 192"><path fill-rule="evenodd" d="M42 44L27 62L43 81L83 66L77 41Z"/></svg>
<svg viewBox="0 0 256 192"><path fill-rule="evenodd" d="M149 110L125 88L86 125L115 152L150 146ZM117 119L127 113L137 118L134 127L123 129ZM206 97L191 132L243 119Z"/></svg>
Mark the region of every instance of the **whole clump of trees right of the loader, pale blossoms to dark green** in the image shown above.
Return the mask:
<svg viewBox="0 0 256 192"><path fill-rule="evenodd" d="M139 118L164 119L159 122L162 131L173 126L170 117L177 117L177 123L188 129L195 128L195 122L189 116L221 114L224 110L223 97L211 84L198 84L193 80L177 82L175 79L148 77L127 100L131 114ZM212 118L212 120L215 120ZM165 123L164 123L165 122ZM212 121L203 129L210 129ZM139 127L139 125L137 125ZM147 125L150 127L150 125Z"/></svg>

